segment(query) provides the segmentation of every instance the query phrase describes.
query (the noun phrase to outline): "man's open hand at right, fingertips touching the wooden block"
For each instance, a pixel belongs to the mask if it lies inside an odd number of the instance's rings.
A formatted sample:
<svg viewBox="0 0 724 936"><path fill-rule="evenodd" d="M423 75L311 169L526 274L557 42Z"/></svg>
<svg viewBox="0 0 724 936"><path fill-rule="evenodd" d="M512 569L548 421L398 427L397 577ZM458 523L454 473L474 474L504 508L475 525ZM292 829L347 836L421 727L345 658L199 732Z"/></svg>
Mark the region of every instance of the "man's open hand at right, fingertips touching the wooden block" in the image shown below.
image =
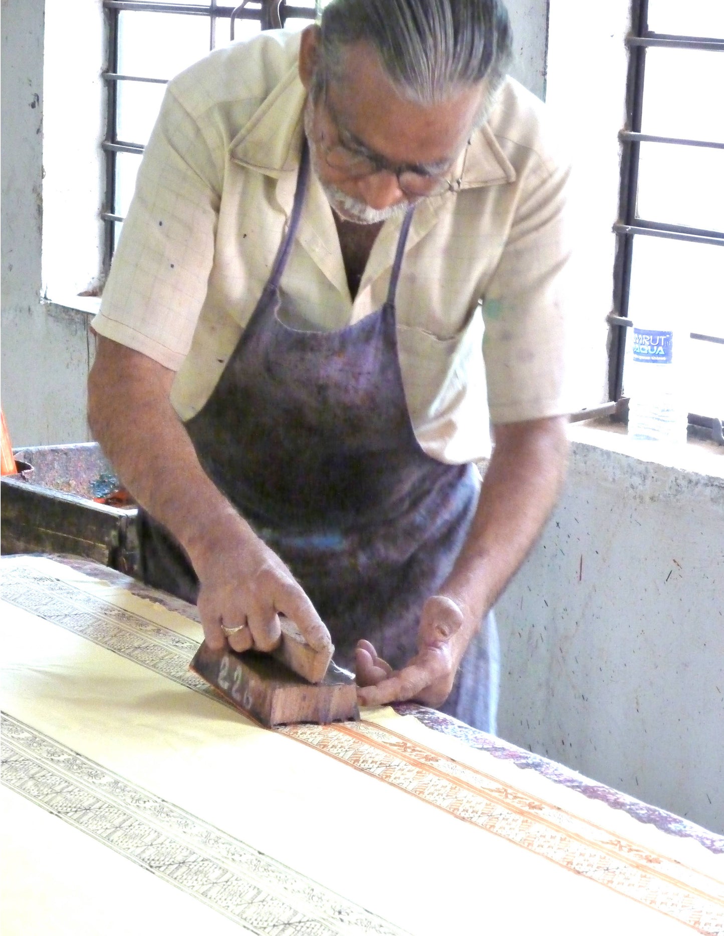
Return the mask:
<svg viewBox="0 0 724 936"><path fill-rule="evenodd" d="M467 639L460 639L464 624L463 611L451 598L439 594L428 598L422 607L418 652L397 672L377 656L368 640L361 640L355 651L360 704L414 699L423 705L442 705L451 693L467 645Z"/></svg>

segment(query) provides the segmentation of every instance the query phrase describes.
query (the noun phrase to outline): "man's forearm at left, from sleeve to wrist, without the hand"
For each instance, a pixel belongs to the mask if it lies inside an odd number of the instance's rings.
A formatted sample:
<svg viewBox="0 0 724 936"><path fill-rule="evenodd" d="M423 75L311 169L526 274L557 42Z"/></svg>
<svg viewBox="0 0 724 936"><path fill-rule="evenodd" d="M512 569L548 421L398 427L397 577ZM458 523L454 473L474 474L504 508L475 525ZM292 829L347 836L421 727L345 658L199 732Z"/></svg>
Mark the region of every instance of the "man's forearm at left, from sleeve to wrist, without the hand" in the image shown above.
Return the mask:
<svg viewBox="0 0 724 936"><path fill-rule="evenodd" d="M101 338L88 384L88 421L113 468L140 505L163 523L192 562L226 524L243 524L199 464L170 401L175 374ZM195 563L196 564L196 563Z"/></svg>

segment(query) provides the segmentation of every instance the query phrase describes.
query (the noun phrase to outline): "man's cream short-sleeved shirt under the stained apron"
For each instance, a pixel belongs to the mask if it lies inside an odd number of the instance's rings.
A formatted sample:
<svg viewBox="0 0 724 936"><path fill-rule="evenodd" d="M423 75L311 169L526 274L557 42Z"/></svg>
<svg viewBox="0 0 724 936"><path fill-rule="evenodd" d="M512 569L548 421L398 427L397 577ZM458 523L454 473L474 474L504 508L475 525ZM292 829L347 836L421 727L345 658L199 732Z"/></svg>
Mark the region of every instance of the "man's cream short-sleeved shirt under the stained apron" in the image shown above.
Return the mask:
<svg viewBox="0 0 724 936"><path fill-rule="evenodd" d="M291 212L305 99L299 35L269 31L170 81L139 170L96 331L177 371L199 412L241 338ZM461 191L415 210L397 288L407 408L432 457L485 454L488 421L570 412L568 167L543 107L513 80L456 167ZM282 279L320 331L384 302L401 217L382 227L354 301L332 210L312 174ZM487 392L486 392L487 391Z"/></svg>

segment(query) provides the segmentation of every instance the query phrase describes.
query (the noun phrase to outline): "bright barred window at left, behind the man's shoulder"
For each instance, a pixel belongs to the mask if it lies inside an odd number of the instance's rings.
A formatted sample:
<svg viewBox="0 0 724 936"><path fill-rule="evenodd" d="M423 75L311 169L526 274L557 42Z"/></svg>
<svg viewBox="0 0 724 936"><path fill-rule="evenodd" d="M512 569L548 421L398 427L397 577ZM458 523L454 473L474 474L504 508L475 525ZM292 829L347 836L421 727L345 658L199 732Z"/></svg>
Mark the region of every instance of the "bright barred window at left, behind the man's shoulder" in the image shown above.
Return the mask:
<svg viewBox="0 0 724 936"><path fill-rule="evenodd" d="M237 7L103 0L109 35L101 212L106 274L167 82L208 52L253 37L260 29L302 29L315 21L322 6L322 0L296 0L293 6L285 0L245 0Z"/></svg>

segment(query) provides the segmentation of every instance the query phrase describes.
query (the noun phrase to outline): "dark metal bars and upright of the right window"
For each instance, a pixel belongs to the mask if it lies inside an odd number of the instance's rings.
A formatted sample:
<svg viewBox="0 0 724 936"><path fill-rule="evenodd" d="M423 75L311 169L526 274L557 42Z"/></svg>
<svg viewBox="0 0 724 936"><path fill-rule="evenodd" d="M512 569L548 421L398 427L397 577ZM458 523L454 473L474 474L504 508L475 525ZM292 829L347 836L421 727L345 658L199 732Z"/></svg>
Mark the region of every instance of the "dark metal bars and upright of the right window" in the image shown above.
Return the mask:
<svg viewBox="0 0 724 936"><path fill-rule="evenodd" d="M724 143L702 139L679 139L642 133L643 88L645 78L645 53L650 48L694 49L699 51L724 51L724 37L695 37L657 34L648 29L648 0L633 0L631 7L631 34L628 46L628 79L626 101L626 129L618 138L622 143L621 183L619 187L618 220L613 225L616 236L616 252L613 267L613 313L607 318L611 326L609 352L609 399L620 402L623 393L624 359L627 328L632 324L628 317L628 293L631 283L631 260L635 237L660 237L695 243L724 246L724 232L702 230L695 227L671 225L665 222L644 220L636 216L636 197L639 185L639 155L641 143L668 143L680 146L724 149ZM690 332L694 341L724 344L724 339L714 335ZM616 402L608 404L611 407ZM604 404L605 406L605 404ZM613 418L620 418L621 407L613 411ZM722 414L719 414L722 416ZM584 418L584 417L582 417ZM689 413L688 421L694 426L711 429L712 437L724 444L721 421Z"/></svg>

